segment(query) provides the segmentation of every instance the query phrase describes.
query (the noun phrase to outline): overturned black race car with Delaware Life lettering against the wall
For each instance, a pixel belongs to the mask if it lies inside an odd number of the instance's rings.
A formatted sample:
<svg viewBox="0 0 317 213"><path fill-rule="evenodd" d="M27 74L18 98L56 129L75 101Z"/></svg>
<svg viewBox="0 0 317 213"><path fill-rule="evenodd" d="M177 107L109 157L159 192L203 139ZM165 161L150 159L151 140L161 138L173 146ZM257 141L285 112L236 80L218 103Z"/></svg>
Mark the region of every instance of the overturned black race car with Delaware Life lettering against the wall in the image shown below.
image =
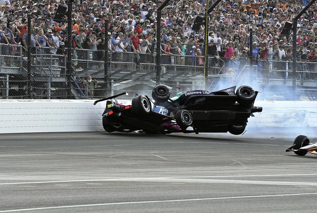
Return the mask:
<svg viewBox="0 0 317 213"><path fill-rule="evenodd" d="M152 90L152 98L137 95L129 104L119 104L117 97L95 101L107 101L102 114L103 127L107 132L132 132L142 130L146 133L171 132L230 132L239 135L245 130L248 118L262 107L255 107L257 91L249 86L236 86L209 92L193 90L176 97L170 97L165 85L157 85ZM188 127L192 127L188 130Z"/></svg>

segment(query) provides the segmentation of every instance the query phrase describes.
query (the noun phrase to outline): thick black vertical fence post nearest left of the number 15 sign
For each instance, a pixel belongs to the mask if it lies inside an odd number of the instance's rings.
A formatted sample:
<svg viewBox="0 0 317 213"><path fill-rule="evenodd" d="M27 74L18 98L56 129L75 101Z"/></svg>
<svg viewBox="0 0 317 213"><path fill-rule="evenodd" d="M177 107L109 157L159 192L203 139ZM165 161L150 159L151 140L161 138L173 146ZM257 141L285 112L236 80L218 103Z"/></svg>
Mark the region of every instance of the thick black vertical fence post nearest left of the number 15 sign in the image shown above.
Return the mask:
<svg viewBox="0 0 317 213"><path fill-rule="evenodd" d="M72 75L72 10L73 0L67 2L67 63L66 63L66 76L67 76L67 96L71 99L71 75Z"/></svg>

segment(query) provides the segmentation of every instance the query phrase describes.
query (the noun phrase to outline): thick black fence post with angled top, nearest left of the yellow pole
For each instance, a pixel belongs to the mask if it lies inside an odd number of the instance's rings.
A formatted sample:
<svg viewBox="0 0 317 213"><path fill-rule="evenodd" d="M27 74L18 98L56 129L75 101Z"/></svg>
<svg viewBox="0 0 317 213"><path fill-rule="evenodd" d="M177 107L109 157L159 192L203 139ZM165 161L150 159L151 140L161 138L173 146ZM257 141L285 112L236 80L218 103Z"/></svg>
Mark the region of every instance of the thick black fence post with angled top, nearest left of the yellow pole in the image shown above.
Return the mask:
<svg viewBox="0 0 317 213"><path fill-rule="evenodd" d="M170 0L165 0L159 5L156 16L156 84L160 83L161 75L161 11Z"/></svg>

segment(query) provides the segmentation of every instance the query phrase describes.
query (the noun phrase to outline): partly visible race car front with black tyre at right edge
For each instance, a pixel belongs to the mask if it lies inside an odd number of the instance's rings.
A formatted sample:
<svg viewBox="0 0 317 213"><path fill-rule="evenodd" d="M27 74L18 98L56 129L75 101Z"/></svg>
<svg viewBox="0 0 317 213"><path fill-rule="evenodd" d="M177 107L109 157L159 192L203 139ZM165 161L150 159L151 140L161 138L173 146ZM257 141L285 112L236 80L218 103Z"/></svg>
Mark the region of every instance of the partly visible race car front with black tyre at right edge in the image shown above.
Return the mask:
<svg viewBox="0 0 317 213"><path fill-rule="evenodd" d="M294 144L287 148L285 152L294 152L296 155L304 156L307 152L317 154L317 142L310 143L309 139L305 135L299 135L295 138Z"/></svg>

